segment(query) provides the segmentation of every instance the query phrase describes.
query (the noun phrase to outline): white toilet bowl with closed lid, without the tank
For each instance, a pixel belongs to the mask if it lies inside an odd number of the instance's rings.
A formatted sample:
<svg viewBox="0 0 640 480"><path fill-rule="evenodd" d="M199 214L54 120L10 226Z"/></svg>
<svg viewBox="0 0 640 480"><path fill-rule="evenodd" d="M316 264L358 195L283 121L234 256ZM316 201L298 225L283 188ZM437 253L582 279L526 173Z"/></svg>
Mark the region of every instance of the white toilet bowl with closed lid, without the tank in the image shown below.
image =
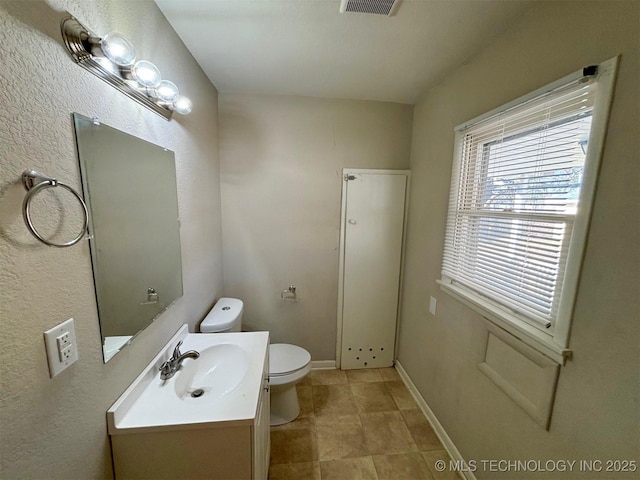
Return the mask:
<svg viewBox="0 0 640 480"><path fill-rule="evenodd" d="M311 354L287 343L269 345L271 426L292 422L300 414L296 383L311 371Z"/></svg>

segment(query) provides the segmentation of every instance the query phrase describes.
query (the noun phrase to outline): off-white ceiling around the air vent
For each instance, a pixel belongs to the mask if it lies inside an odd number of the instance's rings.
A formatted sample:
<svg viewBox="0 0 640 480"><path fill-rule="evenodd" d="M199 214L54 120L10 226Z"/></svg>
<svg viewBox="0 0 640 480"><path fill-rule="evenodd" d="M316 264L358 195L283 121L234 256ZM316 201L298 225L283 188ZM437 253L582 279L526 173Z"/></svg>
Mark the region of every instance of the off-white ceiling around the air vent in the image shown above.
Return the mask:
<svg viewBox="0 0 640 480"><path fill-rule="evenodd" d="M220 92L409 104L533 3L403 0L387 17L340 0L155 1Z"/></svg>

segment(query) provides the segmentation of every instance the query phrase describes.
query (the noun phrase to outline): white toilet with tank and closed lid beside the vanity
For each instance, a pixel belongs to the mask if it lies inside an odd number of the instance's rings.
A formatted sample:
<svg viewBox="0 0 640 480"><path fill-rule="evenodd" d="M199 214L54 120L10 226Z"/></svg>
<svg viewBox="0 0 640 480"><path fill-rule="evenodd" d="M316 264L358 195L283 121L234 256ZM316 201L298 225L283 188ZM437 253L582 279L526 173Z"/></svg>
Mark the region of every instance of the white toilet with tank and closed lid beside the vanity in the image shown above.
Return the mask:
<svg viewBox="0 0 640 480"><path fill-rule="evenodd" d="M201 333L240 332L244 303L223 297L200 323ZM272 426L292 422L300 414L296 383L311 371L311 354L288 343L269 345Z"/></svg>

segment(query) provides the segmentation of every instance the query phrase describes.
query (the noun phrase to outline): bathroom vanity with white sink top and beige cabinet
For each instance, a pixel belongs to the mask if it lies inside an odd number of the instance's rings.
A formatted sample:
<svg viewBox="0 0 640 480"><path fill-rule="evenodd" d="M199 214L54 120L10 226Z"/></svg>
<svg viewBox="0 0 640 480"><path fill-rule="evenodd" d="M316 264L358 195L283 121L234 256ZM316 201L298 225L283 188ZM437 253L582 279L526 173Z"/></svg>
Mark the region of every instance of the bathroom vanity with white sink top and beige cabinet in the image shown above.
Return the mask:
<svg viewBox="0 0 640 480"><path fill-rule="evenodd" d="M168 380L182 340L196 350ZM117 479L266 480L268 332L189 334L184 325L107 412Z"/></svg>

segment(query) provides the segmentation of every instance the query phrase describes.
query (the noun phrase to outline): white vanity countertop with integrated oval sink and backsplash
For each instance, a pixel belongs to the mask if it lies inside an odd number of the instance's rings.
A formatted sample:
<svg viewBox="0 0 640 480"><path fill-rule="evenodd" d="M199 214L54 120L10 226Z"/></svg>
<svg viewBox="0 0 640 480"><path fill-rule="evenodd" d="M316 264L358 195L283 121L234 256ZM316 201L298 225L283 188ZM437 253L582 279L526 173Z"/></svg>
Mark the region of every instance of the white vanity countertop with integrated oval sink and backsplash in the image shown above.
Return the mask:
<svg viewBox="0 0 640 480"><path fill-rule="evenodd" d="M160 365L180 340L183 353L200 357L160 380ZM268 332L188 333L182 326L107 411L109 434L252 422L268 345Z"/></svg>

